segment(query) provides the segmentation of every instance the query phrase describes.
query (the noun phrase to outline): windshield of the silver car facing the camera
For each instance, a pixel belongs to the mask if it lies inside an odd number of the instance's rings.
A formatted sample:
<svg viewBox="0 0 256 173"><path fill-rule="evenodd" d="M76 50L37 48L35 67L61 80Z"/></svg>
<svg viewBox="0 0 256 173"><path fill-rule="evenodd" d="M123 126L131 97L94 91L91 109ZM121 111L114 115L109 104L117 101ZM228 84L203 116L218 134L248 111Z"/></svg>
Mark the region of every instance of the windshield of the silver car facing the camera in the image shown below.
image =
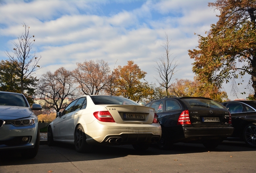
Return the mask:
<svg viewBox="0 0 256 173"><path fill-rule="evenodd" d="M13 93L0 93L0 105L28 107L22 95Z"/></svg>

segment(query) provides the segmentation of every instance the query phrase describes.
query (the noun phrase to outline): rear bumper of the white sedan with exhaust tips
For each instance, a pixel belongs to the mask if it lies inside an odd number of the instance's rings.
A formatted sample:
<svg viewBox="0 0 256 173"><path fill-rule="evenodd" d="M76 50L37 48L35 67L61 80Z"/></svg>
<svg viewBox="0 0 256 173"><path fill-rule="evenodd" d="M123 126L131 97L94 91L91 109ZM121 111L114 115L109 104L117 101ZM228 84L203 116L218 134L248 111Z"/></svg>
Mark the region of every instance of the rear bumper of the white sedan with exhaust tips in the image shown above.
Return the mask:
<svg viewBox="0 0 256 173"><path fill-rule="evenodd" d="M159 124L136 126L115 124L114 126L101 126L100 130L85 131L85 133L88 144L126 145L159 141L162 130Z"/></svg>

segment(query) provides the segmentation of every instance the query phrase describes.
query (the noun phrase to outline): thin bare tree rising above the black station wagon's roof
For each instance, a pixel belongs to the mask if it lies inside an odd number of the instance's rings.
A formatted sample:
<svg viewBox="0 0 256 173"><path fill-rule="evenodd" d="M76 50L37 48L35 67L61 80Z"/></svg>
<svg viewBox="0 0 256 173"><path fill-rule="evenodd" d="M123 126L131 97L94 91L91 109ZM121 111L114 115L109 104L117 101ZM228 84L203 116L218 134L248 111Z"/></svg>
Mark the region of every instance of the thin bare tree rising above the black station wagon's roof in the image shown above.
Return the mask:
<svg viewBox="0 0 256 173"><path fill-rule="evenodd" d="M166 42L163 43L163 48L165 49L165 54L161 56L159 59L159 62L155 61L157 63L157 67L155 67L157 71L157 76L159 78L155 78L157 82L160 84L160 86L165 88L165 95L168 94L168 89L170 87L170 81L173 75L178 71L176 70L179 63L177 63L177 60L175 58L170 58L170 49L169 49L169 43L170 40L168 39L168 35L165 33Z"/></svg>

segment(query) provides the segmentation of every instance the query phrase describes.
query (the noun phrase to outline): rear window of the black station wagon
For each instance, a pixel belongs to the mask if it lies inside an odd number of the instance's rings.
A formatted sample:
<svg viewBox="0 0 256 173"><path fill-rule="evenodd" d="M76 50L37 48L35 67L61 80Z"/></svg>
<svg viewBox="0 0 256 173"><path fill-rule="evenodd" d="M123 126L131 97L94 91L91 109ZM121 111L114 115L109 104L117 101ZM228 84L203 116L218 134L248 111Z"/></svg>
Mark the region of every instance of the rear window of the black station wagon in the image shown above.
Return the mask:
<svg viewBox="0 0 256 173"><path fill-rule="evenodd" d="M184 103L190 108L196 107L206 107L206 108L217 108L217 109L225 109L224 106L209 99L199 99L199 98L189 98L189 99L182 99Z"/></svg>

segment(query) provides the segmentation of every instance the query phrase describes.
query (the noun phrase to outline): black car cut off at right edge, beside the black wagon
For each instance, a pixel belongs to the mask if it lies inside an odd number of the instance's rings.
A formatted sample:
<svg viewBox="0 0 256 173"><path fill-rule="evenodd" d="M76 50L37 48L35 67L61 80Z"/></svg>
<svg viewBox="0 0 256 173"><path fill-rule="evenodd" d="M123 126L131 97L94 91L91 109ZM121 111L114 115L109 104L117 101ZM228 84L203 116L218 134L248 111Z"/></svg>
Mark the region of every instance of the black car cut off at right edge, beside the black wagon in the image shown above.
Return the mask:
<svg viewBox="0 0 256 173"><path fill-rule="evenodd" d="M221 103L232 117L235 128L228 140L245 141L249 147L256 148L256 101L228 101Z"/></svg>

